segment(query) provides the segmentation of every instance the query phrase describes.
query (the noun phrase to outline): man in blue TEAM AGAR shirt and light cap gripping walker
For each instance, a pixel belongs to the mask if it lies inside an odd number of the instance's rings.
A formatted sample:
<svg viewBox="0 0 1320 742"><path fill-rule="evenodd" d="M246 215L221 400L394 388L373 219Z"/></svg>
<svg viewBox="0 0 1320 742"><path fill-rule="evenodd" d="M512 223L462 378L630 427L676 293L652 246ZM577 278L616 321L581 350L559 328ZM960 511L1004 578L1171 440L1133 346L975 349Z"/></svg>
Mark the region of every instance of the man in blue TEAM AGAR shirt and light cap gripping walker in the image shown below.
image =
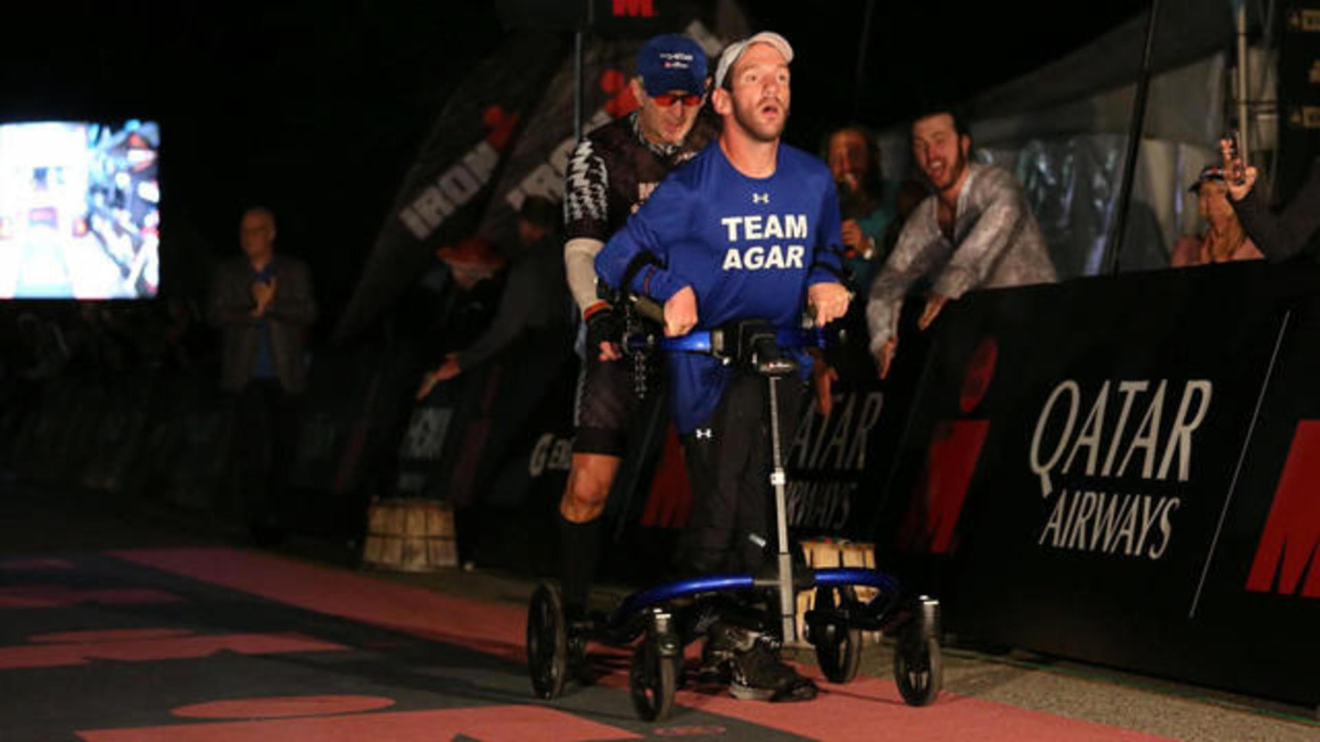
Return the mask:
<svg viewBox="0 0 1320 742"><path fill-rule="evenodd" d="M788 41L771 32L725 50L711 94L723 119L718 141L667 178L595 259L614 287L628 280L639 255L656 259L628 288L664 305L665 335L752 318L792 331L808 306L817 326L847 310L834 178L816 157L780 144L792 58ZM805 379L810 356L789 353ZM696 572L756 572L775 539L766 379L711 355L673 353L667 364L693 486L680 560ZM788 421L801 384L780 387ZM734 697L814 696L814 685L779 660L770 636L726 621L710 634L710 642L733 644Z"/></svg>

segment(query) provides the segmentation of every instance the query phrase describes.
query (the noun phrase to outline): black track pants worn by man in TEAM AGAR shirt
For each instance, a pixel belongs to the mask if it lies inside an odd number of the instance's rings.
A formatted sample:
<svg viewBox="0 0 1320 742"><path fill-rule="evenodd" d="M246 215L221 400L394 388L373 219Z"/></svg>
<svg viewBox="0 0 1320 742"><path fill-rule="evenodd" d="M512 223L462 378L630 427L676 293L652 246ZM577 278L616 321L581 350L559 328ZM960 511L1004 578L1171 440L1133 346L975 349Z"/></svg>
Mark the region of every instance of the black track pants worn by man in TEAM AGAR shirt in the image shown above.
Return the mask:
<svg viewBox="0 0 1320 742"><path fill-rule="evenodd" d="M801 415L804 386L777 382L780 452ZM776 551L775 500L770 486L767 380L738 374L710 417L682 436L692 482L692 516L678 541L685 572L755 573L766 551Z"/></svg>

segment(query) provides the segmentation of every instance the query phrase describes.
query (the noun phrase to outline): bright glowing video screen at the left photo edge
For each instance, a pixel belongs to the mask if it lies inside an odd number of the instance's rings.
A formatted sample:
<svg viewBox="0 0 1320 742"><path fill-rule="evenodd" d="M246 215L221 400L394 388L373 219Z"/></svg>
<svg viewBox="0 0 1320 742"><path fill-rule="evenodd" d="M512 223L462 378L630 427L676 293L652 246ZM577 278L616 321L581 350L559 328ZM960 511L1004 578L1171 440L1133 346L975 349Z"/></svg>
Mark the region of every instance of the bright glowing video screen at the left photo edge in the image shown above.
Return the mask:
<svg viewBox="0 0 1320 742"><path fill-rule="evenodd" d="M0 298L160 288L160 125L0 124Z"/></svg>

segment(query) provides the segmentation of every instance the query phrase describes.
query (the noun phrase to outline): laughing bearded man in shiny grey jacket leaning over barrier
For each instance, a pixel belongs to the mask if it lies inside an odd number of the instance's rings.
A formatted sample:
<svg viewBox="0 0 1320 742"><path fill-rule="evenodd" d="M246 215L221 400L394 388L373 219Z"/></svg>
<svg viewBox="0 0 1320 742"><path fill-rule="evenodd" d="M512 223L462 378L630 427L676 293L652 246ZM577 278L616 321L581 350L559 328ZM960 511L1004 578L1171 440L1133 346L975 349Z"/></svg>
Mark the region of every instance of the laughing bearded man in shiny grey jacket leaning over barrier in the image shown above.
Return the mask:
<svg viewBox="0 0 1320 742"><path fill-rule="evenodd" d="M898 350L903 297L917 279L931 280L921 330L945 302L972 289L1057 280L1018 181L1003 168L970 161L970 149L972 136L953 111L932 110L912 121L912 158L933 193L904 223L871 284L866 322L882 379Z"/></svg>

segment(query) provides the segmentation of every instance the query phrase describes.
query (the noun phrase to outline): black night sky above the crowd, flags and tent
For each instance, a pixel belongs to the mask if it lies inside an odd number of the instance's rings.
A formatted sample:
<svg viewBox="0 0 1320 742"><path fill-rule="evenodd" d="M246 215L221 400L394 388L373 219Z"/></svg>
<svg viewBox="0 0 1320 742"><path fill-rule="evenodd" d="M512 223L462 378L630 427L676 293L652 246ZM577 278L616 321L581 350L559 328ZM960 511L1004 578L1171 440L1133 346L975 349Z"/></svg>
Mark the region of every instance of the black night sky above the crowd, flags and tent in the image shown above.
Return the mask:
<svg viewBox="0 0 1320 742"><path fill-rule="evenodd" d="M1011 79L1144 5L876 1L858 81L865 1L743 3L752 29L795 44L787 139L808 149L830 123L882 127L932 94ZM77 0L7 16L0 120L161 121L162 293L197 290L202 264L236 250L242 210L269 205L280 250L315 273L321 335L432 119L504 33L490 1Z"/></svg>

